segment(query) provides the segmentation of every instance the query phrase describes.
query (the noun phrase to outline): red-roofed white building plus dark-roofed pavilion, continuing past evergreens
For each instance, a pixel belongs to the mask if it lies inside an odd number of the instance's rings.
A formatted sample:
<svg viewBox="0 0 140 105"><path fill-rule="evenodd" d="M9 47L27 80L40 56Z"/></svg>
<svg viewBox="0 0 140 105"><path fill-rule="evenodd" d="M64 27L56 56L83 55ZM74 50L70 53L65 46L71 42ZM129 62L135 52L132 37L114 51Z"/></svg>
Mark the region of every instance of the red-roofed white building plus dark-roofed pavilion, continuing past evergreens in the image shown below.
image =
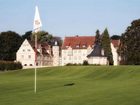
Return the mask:
<svg viewBox="0 0 140 105"><path fill-rule="evenodd" d="M119 64L118 46L118 40L111 40L114 65ZM95 45L95 36L65 37L61 52L62 65L83 64L84 60L87 60L89 64L108 64L107 57L104 56L104 50Z"/></svg>

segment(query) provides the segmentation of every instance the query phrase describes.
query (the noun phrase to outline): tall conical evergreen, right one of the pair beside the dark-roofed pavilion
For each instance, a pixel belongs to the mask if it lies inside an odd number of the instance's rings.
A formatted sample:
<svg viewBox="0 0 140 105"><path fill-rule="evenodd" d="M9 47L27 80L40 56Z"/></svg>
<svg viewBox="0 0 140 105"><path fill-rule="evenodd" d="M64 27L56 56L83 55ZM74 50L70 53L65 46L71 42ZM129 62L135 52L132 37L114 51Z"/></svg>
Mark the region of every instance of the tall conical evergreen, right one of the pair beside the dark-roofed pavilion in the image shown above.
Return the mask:
<svg viewBox="0 0 140 105"><path fill-rule="evenodd" d="M102 34L102 39L101 39L101 45L102 48L104 49L104 54L107 56L107 59L109 61L109 64L113 64L113 57L112 57L112 52L111 52L111 46L110 46L110 37L107 28L104 30Z"/></svg>

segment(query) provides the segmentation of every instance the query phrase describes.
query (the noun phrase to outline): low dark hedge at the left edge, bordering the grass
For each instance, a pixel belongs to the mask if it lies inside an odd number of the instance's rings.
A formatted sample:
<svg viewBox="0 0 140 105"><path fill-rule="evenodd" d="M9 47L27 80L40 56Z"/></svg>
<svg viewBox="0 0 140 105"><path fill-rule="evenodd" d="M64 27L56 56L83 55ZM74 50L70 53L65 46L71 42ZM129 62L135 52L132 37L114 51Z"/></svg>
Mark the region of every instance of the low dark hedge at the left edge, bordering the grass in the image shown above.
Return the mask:
<svg viewBox="0 0 140 105"><path fill-rule="evenodd" d="M22 69L20 62L0 61L0 71Z"/></svg>

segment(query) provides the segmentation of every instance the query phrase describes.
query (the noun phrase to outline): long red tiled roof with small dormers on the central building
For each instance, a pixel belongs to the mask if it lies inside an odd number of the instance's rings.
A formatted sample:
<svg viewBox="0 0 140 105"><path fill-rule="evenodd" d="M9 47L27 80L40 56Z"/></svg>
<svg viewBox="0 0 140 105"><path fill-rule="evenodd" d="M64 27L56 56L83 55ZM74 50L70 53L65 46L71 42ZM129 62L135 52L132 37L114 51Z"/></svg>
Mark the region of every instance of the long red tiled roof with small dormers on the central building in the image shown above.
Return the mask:
<svg viewBox="0 0 140 105"><path fill-rule="evenodd" d="M95 42L95 36L73 36L65 37L62 49L71 47L72 49L86 49L88 46L93 46Z"/></svg>

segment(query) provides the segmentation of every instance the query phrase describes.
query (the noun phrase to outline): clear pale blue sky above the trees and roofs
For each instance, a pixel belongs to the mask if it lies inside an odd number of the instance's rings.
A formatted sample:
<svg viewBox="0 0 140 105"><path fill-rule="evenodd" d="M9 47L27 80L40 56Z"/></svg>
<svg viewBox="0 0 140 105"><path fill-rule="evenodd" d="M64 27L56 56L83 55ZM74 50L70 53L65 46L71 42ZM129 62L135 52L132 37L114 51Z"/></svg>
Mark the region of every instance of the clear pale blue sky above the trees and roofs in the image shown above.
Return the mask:
<svg viewBox="0 0 140 105"><path fill-rule="evenodd" d="M54 36L91 36L108 28L121 35L140 18L140 0L0 0L0 32L33 30L35 6L42 30Z"/></svg>

